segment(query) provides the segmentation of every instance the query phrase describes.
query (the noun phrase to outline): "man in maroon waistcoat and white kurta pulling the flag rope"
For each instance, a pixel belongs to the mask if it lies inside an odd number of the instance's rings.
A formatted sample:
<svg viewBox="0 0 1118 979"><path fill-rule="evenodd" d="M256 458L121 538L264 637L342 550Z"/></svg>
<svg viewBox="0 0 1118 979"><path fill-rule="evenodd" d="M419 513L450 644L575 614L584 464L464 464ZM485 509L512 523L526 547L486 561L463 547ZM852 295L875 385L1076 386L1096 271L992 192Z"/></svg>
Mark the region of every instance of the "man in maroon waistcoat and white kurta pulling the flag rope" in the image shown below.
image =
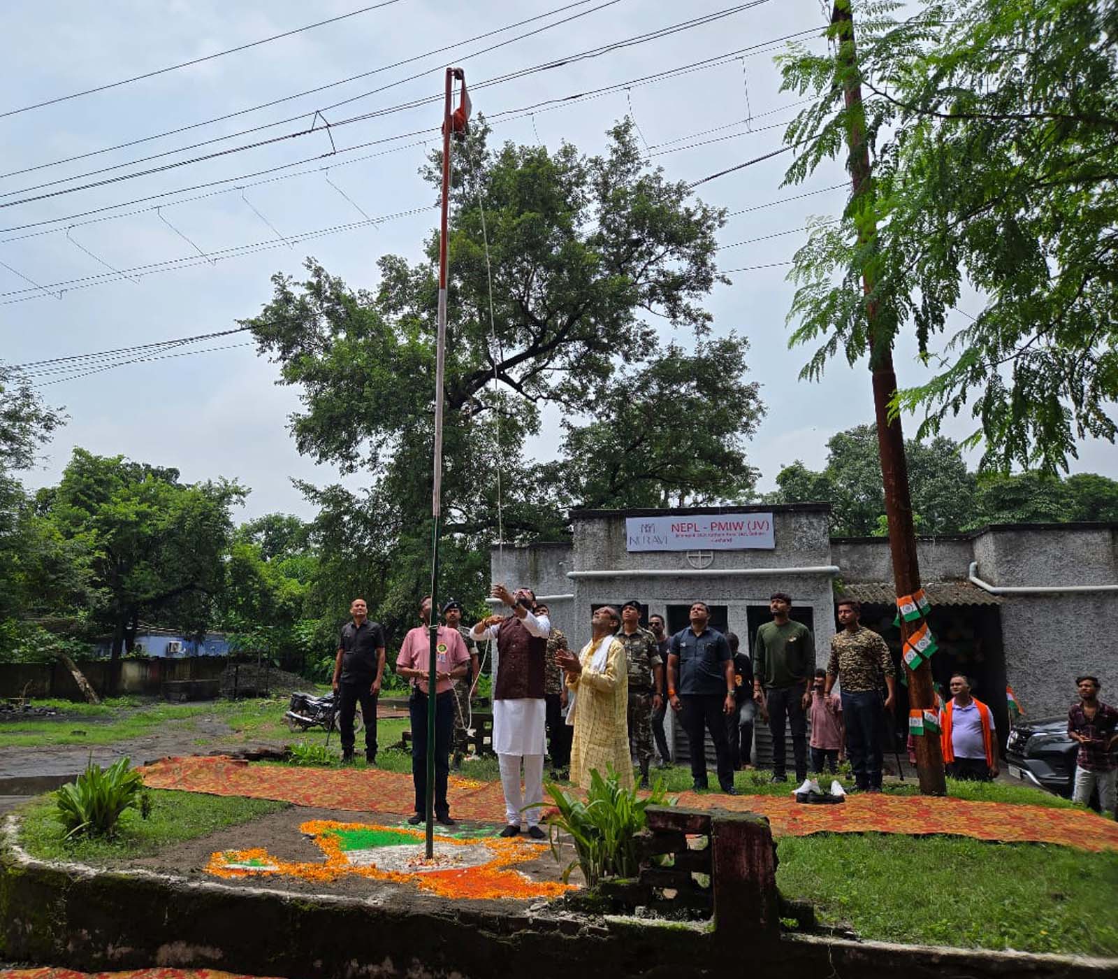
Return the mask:
<svg viewBox="0 0 1118 979"><path fill-rule="evenodd" d="M511 609L508 615L490 615L474 625L475 642L496 640L493 657L493 751L501 765L504 815L501 836L520 832L528 823L532 839L543 839L540 812L543 801L543 753L547 705L543 697L544 660L551 621L536 615L536 595L530 589L511 593L494 585L493 597ZM524 790L520 789L521 763ZM531 807L525 810L525 807Z"/></svg>

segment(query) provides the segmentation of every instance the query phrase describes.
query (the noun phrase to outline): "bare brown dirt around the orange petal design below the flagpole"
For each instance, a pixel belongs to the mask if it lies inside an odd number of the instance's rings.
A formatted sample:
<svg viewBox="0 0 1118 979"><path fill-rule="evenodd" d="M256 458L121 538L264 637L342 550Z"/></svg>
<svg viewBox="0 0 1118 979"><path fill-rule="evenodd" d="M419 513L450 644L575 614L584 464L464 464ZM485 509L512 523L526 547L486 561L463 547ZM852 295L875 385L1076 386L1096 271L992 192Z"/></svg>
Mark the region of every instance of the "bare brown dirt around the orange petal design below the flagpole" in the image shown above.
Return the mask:
<svg viewBox="0 0 1118 979"><path fill-rule="evenodd" d="M267 887L269 889L290 891L300 894L337 894L348 897L372 897L383 895L387 891L415 891L408 883L396 884L369 879L358 875L343 876L332 882L311 882L287 875L249 875L246 877L219 878L206 872L206 865L215 853L226 850L245 850L263 848L268 855L282 860L301 863L323 863L323 851L314 840L300 831L300 826L309 820L335 820L338 822L359 822L385 827L401 827L411 829L397 813L353 812L352 810L311 809L293 806L280 812L273 812L255 819L252 822L218 830L205 837L187 840L168 847L161 853L133 860L116 862L114 866L143 867L151 870L174 874L195 881L221 881L233 887ZM421 827L420 827L421 829ZM444 829L436 825L436 835L453 834L459 838L472 837L477 832L481 838L495 838L498 826L492 823L461 821L453 829ZM532 881L559 881L562 867L574 859L574 849L568 845L560 847L560 865L551 855L547 842L530 841L520 837L528 859L517 863L514 869ZM420 851L423 844L417 840L416 850ZM571 883L580 883L576 872ZM503 905L506 902L481 902L483 904ZM522 905L523 902L511 902ZM531 902L529 902L531 903Z"/></svg>

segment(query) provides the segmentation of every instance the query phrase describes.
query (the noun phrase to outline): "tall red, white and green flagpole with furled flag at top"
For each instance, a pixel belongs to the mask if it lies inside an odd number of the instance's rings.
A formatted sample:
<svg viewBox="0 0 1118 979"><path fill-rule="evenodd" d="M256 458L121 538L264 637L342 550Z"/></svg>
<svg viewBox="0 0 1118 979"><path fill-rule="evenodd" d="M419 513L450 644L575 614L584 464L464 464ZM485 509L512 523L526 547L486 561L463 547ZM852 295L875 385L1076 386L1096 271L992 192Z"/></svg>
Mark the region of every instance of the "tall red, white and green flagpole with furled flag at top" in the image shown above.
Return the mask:
<svg viewBox="0 0 1118 979"><path fill-rule="evenodd" d="M462 83L462 98L453 112L451 105L455 79ZM443 203L438 236L438 333L435 341L435 462L430 495L430 622L427 672L427 838L426 856L435 855L435 700L438 671L438 530L443 511L443 376L446 367L446 232L451 209L451 135L464 139L470 119L466 73L446 69L446 98L443 104ZM449 662L449 658L444 658ZM446 669L443 670L444 672Z"/></svg>

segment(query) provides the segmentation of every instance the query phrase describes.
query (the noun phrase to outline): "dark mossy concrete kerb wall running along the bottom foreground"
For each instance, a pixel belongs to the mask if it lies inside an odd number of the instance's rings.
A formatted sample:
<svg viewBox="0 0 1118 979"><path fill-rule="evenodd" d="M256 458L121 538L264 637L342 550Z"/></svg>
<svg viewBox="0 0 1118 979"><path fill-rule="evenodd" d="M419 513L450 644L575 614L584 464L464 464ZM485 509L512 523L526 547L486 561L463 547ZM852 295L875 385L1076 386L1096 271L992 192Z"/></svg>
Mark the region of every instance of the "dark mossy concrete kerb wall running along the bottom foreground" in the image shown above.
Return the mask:
<svg viewBox="0 0 1118 979"><path fill-rule="evenodd" d="M37 860L0 839L0 959L82 968L219 968L290 977L591 975L783 979L1101 979L1118 960L783 936L720 942L709 930L635 919L449 902L395 885L367 897L198 883L148 870ZM742 958L746 954L747 958Z"/></svg>

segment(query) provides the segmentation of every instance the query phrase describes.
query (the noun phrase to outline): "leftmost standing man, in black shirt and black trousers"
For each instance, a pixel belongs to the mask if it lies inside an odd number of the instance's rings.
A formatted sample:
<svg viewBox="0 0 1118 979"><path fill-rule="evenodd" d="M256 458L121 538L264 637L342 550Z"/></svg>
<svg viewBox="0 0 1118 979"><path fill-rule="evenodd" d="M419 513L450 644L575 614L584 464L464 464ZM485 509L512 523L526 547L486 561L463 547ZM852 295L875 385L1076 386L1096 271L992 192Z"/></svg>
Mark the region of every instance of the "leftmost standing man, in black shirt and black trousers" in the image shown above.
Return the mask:
<svg viewBox="0 0 1118 979"><path fill-rule="evenodd" d="M342 627L334 660L334 694L338 696L338 726L341 728L342 763L353 761L353 714L361 704L364 718L364 760L377 760L377 697L385 675L385 630L369 621L364 599L350 605L352 622Z"/></svg>

